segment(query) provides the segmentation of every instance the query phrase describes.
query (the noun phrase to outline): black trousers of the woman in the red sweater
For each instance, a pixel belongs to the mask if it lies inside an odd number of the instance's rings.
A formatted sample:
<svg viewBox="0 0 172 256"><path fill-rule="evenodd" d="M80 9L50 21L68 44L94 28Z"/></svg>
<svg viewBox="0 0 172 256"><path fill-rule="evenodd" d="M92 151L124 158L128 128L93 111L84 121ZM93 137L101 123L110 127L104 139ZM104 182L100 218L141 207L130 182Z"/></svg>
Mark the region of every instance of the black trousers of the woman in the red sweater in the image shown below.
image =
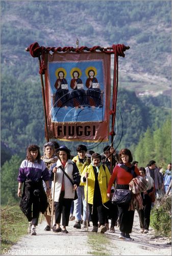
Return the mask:
<svg viewBox="0 0 172 256"><path fill-rule="evenodd" d="M131 233L134 221L134 210L128 210L129 204L118 206L119 230L124 233Z"/></svg>

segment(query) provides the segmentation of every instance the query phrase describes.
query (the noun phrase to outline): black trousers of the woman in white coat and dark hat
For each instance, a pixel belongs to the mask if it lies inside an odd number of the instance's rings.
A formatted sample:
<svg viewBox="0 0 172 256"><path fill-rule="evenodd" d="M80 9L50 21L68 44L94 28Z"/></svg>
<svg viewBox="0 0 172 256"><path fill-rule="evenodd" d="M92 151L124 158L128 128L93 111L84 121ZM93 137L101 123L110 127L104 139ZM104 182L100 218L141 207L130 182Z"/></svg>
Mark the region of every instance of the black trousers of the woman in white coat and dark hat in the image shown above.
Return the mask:
<svg viewBox="0 0 172 256"><path fill-rule="evenodd" d="M68 226L70 207L72 199L64 198L64 191L61 191L59 202L55 202L55 220L60 223L62 214L62 225Z"/></svg>

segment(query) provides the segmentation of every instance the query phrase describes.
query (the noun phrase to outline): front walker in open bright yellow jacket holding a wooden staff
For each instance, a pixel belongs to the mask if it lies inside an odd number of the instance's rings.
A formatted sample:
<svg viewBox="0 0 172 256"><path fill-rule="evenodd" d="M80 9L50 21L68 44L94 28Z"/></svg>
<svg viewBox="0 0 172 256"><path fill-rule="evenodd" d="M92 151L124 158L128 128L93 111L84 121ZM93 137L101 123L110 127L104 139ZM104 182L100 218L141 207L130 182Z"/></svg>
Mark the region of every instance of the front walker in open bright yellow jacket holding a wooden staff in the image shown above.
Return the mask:
<svg viewBox="0 0 172 256"><path fill-rule="evenodd" d="M105 218L107 216L106 203L107 186L110 180L110 173L107 166L101 163L101 155L94 153L91 157L91 164L84 168L81 174L81 182L84 184L85 197L87 195L86 179L88 178L88 206L92 219L92 232L97 232L98 221L100 222L100 231L107 231L105 227ZM80 183L81 184L81 183Z"/></svg>

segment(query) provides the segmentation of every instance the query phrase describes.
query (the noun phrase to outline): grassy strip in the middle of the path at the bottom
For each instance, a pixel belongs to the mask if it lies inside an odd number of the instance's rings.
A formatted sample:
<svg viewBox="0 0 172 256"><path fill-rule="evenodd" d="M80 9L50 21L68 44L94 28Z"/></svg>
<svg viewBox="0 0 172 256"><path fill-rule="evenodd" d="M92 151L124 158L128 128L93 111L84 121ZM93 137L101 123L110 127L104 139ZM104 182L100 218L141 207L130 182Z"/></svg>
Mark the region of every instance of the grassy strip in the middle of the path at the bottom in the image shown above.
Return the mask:
<svg viewBox="0 0 172 256"><path fill-rule="evenodd" d="M110 240L105 234L101 233L88 233L87 242L91 247L91 251L88 253L91 255L111 255L108 252L108 247L110 245Z"/></svg>

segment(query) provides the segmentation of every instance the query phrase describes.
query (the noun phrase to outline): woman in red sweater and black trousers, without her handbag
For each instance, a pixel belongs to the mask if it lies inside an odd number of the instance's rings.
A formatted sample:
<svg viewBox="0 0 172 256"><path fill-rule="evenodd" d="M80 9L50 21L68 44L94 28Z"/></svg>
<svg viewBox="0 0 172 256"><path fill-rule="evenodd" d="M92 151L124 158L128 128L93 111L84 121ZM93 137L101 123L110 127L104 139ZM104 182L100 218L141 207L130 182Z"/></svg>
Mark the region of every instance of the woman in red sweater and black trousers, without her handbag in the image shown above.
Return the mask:
<svg viewBox="0 0 172 256"><path fill-rule="evenodd" d="M129 189L130 181L136 176L140 175L136 166L132 165L132 154L128 148L124 148L119 152L120 163L113 169L107 190L107 196L111 197L111 187L116 179L116 189ZM119 212L119 230L121 231L119 238L132 240L130 233L132 232L134 210L128 210L129 204L118 206Z"/></svg>

